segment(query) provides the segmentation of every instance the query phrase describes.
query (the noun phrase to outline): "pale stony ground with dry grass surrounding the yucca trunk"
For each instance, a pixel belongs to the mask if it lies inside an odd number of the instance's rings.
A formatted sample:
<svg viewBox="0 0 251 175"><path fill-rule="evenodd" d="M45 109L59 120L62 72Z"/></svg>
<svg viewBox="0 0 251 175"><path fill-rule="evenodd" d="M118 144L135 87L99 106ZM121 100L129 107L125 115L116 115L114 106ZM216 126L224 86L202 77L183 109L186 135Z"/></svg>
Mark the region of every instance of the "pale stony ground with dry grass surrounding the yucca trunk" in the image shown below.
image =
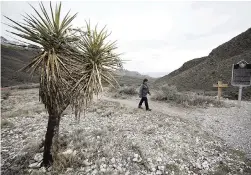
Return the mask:
<svg viewBox="0 0 251 175"><path fill-rule="evenodd" d="M102 98L79 123L67 110L60 125L59 153L53 166L45 169L39 165L48 115L38 101L38 90L12 90L1 106L2 173L251 174L248 148L237 150L221 138L222 133L212 133L219 131L221 123L225 128L231 117L214 116L212 121L219 121L213 127L216 130L205 129L205 122L210 121L202 117L203 112L214 110L218 114L220 109L184 109L154 103L153 108L159 110L146 112L135 109L134 103L137 105L135 100ZM249 107L244 106L243 114L249 112ZM225 110L229 115L234 107ZM246 127L240 134L247 132L248 136Z"/></svg>

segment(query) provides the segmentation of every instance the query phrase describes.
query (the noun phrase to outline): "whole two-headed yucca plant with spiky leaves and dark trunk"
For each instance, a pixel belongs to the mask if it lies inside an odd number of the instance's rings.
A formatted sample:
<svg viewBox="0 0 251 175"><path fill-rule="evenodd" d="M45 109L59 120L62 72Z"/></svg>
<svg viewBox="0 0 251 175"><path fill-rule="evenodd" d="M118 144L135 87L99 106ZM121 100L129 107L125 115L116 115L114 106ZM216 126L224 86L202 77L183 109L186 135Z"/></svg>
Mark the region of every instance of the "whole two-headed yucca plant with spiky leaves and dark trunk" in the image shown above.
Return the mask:
<svg viewBox="0 0 251 175"><path fill-rule="evenodd" d="M39 96L48 111L48 126L45 135L43 165L53 162L51 146L59 132L60 116L72 105L76 115L92 100L93 94L102 90L102 82L112 83L113 69L122 66L115 43L105 43L107 33L102 30L87 32L73 30L71 22L76 17L67 15L61 20L61 3L50 13L40 3L41 12L31 6L36 15L26 14L24 23L16 22L11 32L21 38L42 46L43 51L35 56L24 70L40 75ZM80 35L76 35L76 32Z"/></svg>

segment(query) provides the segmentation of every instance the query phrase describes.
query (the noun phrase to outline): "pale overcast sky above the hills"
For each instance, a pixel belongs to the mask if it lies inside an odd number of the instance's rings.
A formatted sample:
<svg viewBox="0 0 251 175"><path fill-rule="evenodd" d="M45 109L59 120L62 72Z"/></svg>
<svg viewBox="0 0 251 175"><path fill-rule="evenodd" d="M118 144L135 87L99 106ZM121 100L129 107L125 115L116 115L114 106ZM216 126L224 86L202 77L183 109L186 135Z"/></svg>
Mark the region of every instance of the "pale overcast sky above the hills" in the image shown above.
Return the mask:
<svg viewBox="0 0 251 175"><path fill-rule="evenodd" d="M38 2L30 2L38 7ZM53 2L55 4L56 2ZM44 2L48 8L49 3ZM251 2L63 2L64 14L78 12L75 26L85 20L107 25L117 40L124 67L140 73L171 72L188 60L207 56L218 45L251 27ZM1 14L22 21L33 13L28 2L1 2ZM2 16L2 22L6 19ZM10 38L1 24L1 35Z"/></svg>

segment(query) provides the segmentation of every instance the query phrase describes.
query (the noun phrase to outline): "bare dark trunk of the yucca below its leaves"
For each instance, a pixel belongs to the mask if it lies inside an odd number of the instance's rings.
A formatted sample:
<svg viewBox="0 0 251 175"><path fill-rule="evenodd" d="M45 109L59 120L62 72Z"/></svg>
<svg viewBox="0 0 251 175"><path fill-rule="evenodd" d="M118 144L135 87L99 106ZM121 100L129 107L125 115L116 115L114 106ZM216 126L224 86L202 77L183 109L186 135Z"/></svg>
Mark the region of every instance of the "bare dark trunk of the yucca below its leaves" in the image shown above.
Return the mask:
<svg viewBox="0 0 251 175"><path fill-rule="evenodd" d="M44 142L44 155L42 165L47 167L53 163L51 148L55 135L59 133L60 115L50 114Z"/></svg>

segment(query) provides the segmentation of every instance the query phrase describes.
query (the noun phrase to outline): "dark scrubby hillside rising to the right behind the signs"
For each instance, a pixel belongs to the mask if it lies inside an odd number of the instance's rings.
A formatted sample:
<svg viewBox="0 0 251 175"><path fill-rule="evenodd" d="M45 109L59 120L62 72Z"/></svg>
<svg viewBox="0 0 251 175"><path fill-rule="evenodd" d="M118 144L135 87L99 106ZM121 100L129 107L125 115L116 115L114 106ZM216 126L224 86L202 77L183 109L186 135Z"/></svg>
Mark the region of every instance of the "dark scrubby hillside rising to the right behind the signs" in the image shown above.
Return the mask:
<svg viewBox="0 0 251 175"><path fill-rule="evenodd" d="M155 81L156 85L175 85L180 91L214 91L213 84L221 80L229 84L226 97L236 99L238 88L231 86L232 64L240 60L251 62L251 28L213 49L202 58L196 58L170 74ZM251 88L244 88L243 99L251 100Z"/></svg>

